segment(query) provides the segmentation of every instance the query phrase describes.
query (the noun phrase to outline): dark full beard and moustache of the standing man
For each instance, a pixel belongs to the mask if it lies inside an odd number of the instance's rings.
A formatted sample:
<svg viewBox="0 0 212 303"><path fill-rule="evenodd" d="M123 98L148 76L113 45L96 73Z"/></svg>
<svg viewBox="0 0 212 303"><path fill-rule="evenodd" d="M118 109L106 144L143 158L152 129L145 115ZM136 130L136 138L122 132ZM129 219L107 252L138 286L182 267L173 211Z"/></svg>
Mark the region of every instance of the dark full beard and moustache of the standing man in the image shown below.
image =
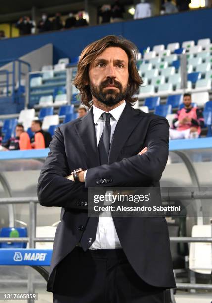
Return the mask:
<svg viewBox="0 0 212 303"><path fill-rule="evenodd" d="M117 91L116 89L105 89L105 87L113 85L117 87L119 90ZM123 86L120 82L112 79L107 79L99 86L93 85L93 83L90 81L90 90L91 94L101 103L107 105L107 106L112 106L115 104L118 104L120 101L125 99L128 95L128 86L126 86L123 89Z"/></svg>

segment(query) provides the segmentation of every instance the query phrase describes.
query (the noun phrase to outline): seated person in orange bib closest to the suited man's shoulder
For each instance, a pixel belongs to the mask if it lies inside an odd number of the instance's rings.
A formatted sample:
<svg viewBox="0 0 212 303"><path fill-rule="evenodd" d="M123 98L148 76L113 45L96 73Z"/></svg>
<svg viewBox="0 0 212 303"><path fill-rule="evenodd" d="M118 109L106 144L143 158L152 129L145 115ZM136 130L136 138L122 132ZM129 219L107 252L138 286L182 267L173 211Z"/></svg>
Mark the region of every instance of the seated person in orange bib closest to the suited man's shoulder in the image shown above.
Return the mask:
<svg viewBox="0 0 212 303"><path fill-rule="evenodd" d="M35 135L31 138L31 146L33 149L47 148L52 140L49 132L41 129L42 122L40 120L33 120L31 130Z"/></svg>

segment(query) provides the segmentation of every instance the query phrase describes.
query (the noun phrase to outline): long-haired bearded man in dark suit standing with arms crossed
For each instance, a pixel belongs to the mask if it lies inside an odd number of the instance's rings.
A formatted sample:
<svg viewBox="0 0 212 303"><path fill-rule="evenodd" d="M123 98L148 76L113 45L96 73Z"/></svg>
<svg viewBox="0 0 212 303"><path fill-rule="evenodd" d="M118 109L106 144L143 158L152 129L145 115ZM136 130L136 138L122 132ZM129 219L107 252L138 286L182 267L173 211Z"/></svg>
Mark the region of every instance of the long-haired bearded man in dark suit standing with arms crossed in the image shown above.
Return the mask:
<svg viewBox="0 0 212 303"><path fill-rule="evenodd" d="M89 187L159 187L168 159L167 120L131 106L142 83L136 54L116 36L83 50L74 84L90 110L57 128L41 170L40 204L62 208L54 303L164 303L176 287L164 217L87 214Z"/></svg>

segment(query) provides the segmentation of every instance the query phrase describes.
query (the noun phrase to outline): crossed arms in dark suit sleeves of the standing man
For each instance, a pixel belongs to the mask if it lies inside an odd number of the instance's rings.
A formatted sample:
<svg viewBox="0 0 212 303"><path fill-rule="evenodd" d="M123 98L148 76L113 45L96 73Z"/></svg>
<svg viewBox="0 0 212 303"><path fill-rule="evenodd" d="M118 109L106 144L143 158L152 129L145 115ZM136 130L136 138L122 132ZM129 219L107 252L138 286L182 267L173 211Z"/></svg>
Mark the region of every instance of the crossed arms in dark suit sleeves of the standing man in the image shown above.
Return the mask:
<svg viewBox="0 0 212 303"><path fill-rule="evenodd" d="M151 120L145 149L139 154L112 164L89 168L84 182L84 172L79 183L69 180L64 138L60 128L50 144L50 152L41 170L37 194L41 205L77 208L77 202L87 201L87 188L97 187L98 178L112 177L113 182L99 187L127 186L130 182L160 180L168 159L169 124L163 117ZM79 206L80 209L82 207Z"/></svg>

